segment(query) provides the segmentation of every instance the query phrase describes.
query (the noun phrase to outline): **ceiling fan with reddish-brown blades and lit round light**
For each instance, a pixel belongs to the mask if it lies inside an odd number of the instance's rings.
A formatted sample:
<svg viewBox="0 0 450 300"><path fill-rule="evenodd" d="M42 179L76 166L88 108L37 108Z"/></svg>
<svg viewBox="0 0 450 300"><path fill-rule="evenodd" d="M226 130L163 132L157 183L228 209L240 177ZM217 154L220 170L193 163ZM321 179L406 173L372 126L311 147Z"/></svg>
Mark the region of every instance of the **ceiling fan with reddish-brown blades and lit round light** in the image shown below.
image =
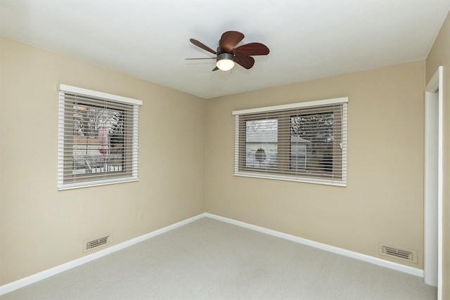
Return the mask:
<svg viewBox="0 0 450 300"><path fill-rule="evenodd" d="M190 39L192 44L217 55L217 57L186 58L186 60L215 59L217 60L217 63L213 71L229 71L233 69L234 63L245 67L245 69L250 69L253 65L255 65L255 58L252 58L252 56L266 56L269 54L269 48L261 43L249 43L234 48L243 39L244 34L240 32L224 32L219 40L219 47L217 47L217 51L212 50L212 48L206 46L200 41L197 41L196 39Z"/></svg>

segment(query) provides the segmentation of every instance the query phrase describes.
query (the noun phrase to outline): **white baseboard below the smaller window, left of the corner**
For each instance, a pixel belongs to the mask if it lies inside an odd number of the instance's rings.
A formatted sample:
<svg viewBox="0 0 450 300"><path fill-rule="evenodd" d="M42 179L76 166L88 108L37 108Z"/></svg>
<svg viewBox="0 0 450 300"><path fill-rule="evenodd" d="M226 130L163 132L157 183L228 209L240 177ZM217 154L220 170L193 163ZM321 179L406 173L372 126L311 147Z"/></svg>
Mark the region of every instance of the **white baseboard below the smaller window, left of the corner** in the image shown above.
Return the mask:
<svg viewBox="0 0 450 300"><path fill-rule="evenodd" d="M73 261L69 261L67 263L63 263L59 266L49 268L48 270L44 270L42 272L30 275L28 277L15 280L13 282L7 283L6 285L0 286L0 296L4 295L9 292L13 292L15 289L20 289L21 287L25 287L27 285L31 285L34 282L38 282L40 280L44 280L46 278L49 278L53 275L63 273L66 270L70 270L71 268L75 268L77 266L81 266L84 263L89 263L89 261L94 261L94 259L99 259L103 256L106 256L108 254L111 254L113 252L122 250L124 248L130 247L134 244L137 244L139 242L143 242L144 240L148 240L151 237L155 237L157 235L160 235L162 233L167 233L170 230L173 230L175 228L179 228L181 226L184 226L188 223L191 223L193 221L196 221L198 219L201 219L205 217L205 214L199 214L198 216L193 216L190 219L186 219L184 221L180 221L178 223L174 223L172 225L166 226L164 228L160 228L158 230L152 231L151 233L147 233L145 235L141 235L139 237L135 237L134 239L127 240L126 242L122 242L120 244L116 244L112 247L108 247L103 250L99 250L98 252L94 252L93 254L89 254L86 256L83 256L79 259L75 259Z"/></svg>

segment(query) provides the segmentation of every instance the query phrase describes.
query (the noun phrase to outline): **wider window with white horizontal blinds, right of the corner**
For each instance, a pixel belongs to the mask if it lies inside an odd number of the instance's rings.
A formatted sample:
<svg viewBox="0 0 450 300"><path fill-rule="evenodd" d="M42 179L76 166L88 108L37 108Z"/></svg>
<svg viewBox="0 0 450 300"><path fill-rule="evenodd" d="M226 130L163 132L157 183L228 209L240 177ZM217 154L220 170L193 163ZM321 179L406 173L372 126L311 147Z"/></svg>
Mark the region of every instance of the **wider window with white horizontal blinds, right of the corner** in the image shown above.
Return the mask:
<svg viewBox="0 0 450 300"><path fill-rule="evenodd" d="M236 176L347 184L348 98L234 111Z"/></svg>

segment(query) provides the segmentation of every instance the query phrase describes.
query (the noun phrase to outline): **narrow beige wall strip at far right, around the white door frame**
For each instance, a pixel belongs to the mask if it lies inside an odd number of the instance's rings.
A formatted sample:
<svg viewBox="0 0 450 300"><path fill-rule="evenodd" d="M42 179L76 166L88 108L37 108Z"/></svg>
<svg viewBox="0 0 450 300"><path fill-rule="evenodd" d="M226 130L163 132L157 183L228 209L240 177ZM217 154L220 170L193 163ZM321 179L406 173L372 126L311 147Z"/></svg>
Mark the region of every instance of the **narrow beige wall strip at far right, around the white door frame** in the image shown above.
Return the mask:
<svg viewBox="0 0 450 300"><path fill-rule="evenodd" d="M427 82L439 65L444 66L442 96L444 99L444 249L442 299L450 299L450 13L432 46L427 63Z"/></svg>

